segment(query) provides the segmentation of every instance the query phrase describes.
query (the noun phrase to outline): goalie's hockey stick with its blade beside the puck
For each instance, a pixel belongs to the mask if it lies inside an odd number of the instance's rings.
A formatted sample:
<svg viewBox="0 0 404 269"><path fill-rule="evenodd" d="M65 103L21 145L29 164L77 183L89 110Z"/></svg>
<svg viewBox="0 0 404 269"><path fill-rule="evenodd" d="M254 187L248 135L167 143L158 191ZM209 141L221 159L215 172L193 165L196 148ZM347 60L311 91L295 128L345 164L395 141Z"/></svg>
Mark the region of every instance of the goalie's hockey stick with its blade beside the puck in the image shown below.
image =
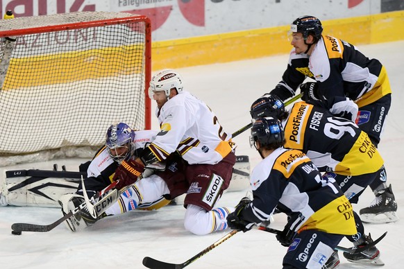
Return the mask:
<svg viewBox="0 0 404 269"><path fill-rule="evenodd" d="M113 189L118 184L118 182L119 182L118 180L112 182L105 189L103 189L102 191L97 193L95 198L99 198L99 197L105 195L106 193L108 193L108 191ZM108 193L108 196L105 196L104 198L109 197L109 196L110 196L110 193ZM86 206L86 204L85 204L85 202L83 202L81 205L79 205L78 207L76 207L75 209L70 211L68 214L66 214L65 216L62 216L62 218L59 218L54 223L51 223L49 225L30 224L30 223L14 223L11 225L11 229L16 234L20 234L21 232L49 232L53 228L60 225L60 223L63 223L63 221L67 220L68 218L71 218L71 216L76 214L78 211L81 211L83 208L85 208L85 206Z"/></svg>

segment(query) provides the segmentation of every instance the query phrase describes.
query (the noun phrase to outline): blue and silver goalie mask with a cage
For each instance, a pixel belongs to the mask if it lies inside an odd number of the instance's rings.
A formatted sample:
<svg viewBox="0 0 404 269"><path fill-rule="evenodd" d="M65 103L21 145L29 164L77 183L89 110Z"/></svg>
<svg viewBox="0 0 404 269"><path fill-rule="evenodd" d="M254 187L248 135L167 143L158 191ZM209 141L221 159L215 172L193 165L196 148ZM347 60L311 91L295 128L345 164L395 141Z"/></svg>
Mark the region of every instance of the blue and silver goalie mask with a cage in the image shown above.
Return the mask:
<svg viewBox="0 0 404 269"><path fill-rule="evenodd" d="M135 152L134 139L135 131L126 123L110 125L106 135L106 148L111 158L121 164L124 159L132 157Z"/></svg>

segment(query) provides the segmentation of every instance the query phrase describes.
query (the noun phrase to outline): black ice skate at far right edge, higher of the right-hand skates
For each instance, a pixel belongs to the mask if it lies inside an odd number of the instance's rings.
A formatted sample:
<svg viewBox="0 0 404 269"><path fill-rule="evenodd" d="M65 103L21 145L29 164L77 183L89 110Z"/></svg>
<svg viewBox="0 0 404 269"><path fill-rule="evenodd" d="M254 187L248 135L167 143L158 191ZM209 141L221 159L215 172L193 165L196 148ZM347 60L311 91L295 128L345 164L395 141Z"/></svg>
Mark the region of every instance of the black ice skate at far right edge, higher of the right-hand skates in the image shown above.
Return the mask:
<svg viewBox="0 0 404 269"><path fill-rule="evenodd" d="M376 194L369 207L360 209L360 218L364 223L393 223L397 221L397 203L394 199L392 185Z"/></svg>

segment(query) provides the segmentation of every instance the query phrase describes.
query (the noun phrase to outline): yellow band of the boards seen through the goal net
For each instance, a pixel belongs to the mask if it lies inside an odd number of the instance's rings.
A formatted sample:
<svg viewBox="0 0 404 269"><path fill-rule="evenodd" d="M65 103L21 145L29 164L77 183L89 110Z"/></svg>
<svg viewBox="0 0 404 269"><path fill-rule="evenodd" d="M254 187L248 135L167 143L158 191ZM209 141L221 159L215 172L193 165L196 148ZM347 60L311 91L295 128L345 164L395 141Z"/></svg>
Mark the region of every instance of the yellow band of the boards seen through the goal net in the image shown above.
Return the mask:
<svg viewBox="0 0 404 269"><path fill-rule="evenodd" d="M3 89L72 83L142 72L144 44L12 58Z"/></svg>

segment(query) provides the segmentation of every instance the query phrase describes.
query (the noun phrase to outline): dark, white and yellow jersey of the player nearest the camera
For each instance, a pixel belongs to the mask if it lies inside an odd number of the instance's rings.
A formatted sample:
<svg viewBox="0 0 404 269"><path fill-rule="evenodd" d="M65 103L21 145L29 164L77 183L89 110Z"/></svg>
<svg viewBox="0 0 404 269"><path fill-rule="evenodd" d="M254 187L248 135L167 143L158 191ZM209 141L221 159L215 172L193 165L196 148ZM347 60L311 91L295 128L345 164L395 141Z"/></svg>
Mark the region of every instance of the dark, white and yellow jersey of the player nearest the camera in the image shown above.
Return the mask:
<svg viewBox="0 0 404 269"><path fill-rule="evenodd" d="M250 183L254 200L242 211L250 223L267 220L277 208L290 217L288 224L295 232L356 233L351 203L300 150L274 150L255 166Z"/></svg>

